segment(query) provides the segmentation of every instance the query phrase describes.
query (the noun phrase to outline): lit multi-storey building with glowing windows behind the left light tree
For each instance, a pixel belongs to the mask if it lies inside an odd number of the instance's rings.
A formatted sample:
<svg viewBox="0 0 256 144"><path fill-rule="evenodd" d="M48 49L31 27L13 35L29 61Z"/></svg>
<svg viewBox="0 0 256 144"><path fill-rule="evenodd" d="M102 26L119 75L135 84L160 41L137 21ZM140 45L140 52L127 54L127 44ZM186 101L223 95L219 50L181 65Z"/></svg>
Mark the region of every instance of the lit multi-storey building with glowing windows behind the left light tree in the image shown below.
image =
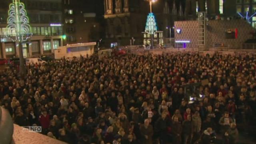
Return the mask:
<svg viewBox="0 0 256 144"><path fill-rule="evenodd" d="M8 8L12 0L0 2L0 57L19 57L18 44L6 38ZM62 46L61 0L20 0L25 5L32 37L23 47L24 57L53 54L54 49Z"/></svg>

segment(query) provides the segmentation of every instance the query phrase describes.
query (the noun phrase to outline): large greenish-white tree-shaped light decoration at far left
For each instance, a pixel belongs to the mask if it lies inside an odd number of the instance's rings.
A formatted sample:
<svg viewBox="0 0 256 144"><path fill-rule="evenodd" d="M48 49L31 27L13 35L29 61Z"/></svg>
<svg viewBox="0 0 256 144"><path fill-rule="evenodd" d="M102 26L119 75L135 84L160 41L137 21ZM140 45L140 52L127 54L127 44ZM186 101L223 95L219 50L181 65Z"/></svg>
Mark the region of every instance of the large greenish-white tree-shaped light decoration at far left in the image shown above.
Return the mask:
<svg viewBox="0 0 256 144"><path fill-rule="evenodd" d="M24 42L32 36L25 6L20 0L12 0L9 6L6 37L12 41Z"/></svg>

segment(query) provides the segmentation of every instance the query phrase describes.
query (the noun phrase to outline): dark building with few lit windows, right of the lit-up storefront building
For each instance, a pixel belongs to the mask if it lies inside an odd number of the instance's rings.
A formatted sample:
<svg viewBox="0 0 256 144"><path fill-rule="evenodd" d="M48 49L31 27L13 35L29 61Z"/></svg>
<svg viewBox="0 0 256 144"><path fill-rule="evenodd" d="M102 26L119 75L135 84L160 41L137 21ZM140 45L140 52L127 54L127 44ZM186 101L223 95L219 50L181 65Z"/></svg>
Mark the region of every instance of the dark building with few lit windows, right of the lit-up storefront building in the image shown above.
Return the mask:
<svg viewBox="0 0 256 144"><path fill-rule="evenodd" d="M100 39L98 22L98 0L62 0L64 45L96 42ZM102 14L103 15L103 14ZM101 16L102 16L101 15Z"/></svg>

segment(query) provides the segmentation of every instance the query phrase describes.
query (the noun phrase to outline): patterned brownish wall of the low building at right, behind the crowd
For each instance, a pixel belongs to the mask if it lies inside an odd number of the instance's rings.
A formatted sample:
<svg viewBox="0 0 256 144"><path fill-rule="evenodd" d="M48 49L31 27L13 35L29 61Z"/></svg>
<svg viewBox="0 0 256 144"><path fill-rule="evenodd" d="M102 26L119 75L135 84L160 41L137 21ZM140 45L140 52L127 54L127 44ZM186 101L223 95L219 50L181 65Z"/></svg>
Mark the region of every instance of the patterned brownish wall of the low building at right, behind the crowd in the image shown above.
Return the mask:
<svg viewBox="0 0 256 144"><path fill-rule="evenodd" d="M187 44L187 47L198 47L198 21L176 21L174 25L175 40L190 40L190 44ZM238 29L238 38L226 39L226 31L236 28ZM177 34L177 29L181 29L182 32ZM212 48L214 44L224 44L229 48L241 48L242 43L252 38L250 32L254 31L254 28L245 20L210 20L207 22L206 29L206 44L208 48Z"/></svg>

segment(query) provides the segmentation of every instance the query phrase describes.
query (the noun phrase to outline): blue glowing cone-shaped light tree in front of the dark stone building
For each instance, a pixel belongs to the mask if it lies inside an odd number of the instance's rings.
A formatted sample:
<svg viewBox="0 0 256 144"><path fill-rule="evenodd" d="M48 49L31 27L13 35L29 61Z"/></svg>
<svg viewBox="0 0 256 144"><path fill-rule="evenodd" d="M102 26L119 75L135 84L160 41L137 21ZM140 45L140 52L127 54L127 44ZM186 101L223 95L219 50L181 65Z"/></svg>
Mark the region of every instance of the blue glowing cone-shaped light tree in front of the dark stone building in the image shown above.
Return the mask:
<svg viewBox="0 0 256 144"><path fill-rule="evenodd" d="M145 32L154 34L157 31L156 18L153 13L148 14Z"/></svg>

